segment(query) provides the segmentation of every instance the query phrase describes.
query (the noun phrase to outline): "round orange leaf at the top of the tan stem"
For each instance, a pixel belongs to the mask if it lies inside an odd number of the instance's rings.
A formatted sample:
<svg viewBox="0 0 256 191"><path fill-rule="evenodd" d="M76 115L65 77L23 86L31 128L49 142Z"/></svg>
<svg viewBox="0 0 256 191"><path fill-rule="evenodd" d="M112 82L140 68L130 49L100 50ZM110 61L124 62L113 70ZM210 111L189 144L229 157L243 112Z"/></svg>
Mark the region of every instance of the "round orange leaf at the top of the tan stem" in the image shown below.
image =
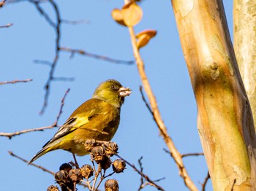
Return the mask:
<svg viewBox="0 0 256 191"><path fill-rule="evenodd" d="M142 9L138 4L135 4L135 2L130 2L129 4L124 5L121 9L121 13L126 26L137 25L143 16Z"/></svg>

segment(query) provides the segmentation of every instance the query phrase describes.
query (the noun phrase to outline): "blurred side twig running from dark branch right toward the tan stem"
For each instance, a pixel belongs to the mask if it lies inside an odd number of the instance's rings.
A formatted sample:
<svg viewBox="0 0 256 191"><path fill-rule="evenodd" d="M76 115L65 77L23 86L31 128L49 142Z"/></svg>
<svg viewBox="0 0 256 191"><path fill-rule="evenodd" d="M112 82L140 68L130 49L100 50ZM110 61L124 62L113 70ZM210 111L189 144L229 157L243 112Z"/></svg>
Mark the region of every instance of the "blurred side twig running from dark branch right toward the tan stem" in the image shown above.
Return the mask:
<svg viewBox="0 0 256 191"><path fill-rule="evenodd" d="M96 54L86 52L84 50L72 49L72 48L69 48L69 47L60 47L60 50L64 51L64 52L71 52L71 56L70 56L71 58L75 54L78 54L78 55L84 55L84 56L91 57L91 58L100 59L100 60L103 60L103 61L108 61L108 62L111 62L111 63L123 63L123 64L128 64L128 65L131 65L131 64L134 63L134 61L120 61L120 60L116 60L116 59L113 59L113 58L106 57L104 55L96 55Z"/></svg>

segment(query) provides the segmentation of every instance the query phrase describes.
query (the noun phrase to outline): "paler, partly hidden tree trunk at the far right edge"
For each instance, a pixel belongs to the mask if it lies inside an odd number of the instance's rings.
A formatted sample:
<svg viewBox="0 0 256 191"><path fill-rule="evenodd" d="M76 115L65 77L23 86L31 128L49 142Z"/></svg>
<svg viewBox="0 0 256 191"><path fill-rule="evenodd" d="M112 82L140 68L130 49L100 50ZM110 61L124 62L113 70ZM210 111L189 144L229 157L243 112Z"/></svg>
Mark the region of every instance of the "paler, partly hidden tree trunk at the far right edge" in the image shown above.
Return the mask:
<svg viewBox="0 0 256 191"><path fill-rule="evenodd" d="M236 60L256 119L256 1L234 1L233 15Z"/></svg>

